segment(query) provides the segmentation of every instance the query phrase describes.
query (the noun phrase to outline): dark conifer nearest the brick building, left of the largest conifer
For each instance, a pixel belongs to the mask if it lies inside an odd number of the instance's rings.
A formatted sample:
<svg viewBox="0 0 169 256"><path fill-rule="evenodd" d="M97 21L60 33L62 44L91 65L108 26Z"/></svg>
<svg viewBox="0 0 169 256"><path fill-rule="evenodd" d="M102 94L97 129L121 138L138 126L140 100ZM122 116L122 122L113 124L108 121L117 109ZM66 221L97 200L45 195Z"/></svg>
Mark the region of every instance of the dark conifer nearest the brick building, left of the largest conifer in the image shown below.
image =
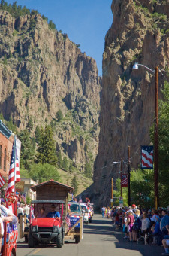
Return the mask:
<svg viewBox="0 0 169 256"><path fill-rule="evenodd" d="M35 151L30 139L28 130L21 130L18 138L22 142L20 151L20 167L22 169L30 170L32 163L34 163Z"/></svg>

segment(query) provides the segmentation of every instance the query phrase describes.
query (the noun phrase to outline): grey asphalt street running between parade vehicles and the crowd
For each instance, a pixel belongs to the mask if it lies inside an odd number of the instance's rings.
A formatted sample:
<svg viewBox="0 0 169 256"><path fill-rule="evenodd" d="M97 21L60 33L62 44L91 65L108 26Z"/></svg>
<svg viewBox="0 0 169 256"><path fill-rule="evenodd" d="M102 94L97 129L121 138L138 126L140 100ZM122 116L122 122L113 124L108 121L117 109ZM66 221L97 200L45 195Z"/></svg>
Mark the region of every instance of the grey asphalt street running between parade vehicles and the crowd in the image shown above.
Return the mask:
<svg viewBox="0 0 169 256"><path fill-rule="evenodd" d="M84 225L84 237L79 244L70 241L62 248L54 245L28 248L21 239L17 242L17 256L156 256L164 252L161 246L128 243L123 237L122 230L115 230L109 219L94 215L92 223Z"/></svg>

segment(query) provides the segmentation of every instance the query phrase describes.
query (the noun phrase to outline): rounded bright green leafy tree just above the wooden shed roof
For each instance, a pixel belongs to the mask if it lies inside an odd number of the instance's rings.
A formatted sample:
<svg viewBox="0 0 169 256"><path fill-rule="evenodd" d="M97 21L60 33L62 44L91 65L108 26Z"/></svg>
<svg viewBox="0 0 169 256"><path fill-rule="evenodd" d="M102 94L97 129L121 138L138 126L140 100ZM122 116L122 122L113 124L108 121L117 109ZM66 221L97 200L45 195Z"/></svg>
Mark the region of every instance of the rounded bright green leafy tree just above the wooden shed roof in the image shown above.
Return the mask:
<svg viewBox="0 0 169 256"><path fill-rule="evenodd" d="M49 163L38 163L32 165L29 174L34 181L38 180L40 183L49 181L50 179L60 181L60 176L56 167Z"/></svg>

